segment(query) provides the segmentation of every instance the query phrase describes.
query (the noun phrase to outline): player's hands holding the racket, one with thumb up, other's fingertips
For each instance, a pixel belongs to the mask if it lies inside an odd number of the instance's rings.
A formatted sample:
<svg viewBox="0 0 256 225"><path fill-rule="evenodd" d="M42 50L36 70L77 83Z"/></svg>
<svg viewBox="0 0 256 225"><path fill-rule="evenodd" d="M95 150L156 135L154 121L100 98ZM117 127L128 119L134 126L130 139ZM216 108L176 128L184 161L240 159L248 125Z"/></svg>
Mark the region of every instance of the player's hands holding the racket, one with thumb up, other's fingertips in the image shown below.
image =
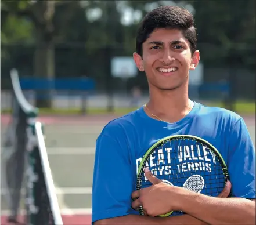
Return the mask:
<svg viewBox="0 0 256 225"><path fill-rule="evenodd" d="M140 205L143 206L145 215L158 216L165 213L179 210L176 202L179 202L179 194L186 190L182 187L170 186L167 183L162 182L160 179L155 177L149 170L145 168L145 176L153 184L150 187L143 188L132 193L132 208L138 210ZM231 190L231 183L226 182L222 192L218 195L218 198L228 197Z"/></svg>

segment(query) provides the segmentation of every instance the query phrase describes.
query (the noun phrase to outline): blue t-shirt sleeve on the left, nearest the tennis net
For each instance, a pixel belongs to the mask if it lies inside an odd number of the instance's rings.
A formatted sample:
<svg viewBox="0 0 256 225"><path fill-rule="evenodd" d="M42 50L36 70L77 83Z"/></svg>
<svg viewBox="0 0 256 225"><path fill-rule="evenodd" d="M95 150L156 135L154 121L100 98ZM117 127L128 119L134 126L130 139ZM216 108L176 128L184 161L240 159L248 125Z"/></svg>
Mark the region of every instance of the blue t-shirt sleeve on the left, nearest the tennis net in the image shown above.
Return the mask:
<svg viewBox="0 0 256 225"><path fill-rule="evenodd" d="M132 171L123 139L100 135L96 141L92 186L92 223L125 216L131 210Z"/></svg>

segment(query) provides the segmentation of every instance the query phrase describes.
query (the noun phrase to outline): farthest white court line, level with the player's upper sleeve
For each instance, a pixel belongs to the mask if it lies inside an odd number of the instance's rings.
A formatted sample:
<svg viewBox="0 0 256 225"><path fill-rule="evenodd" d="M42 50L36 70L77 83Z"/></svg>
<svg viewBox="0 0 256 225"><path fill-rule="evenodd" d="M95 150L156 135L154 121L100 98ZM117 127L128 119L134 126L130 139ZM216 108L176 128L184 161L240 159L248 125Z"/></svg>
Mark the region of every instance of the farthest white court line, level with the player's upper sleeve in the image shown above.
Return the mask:
<svg viewBox="0 0 256 225"><path fill-rule="evenodd" d="M95 147L46 147L48 155L94 155Z"/></svg>

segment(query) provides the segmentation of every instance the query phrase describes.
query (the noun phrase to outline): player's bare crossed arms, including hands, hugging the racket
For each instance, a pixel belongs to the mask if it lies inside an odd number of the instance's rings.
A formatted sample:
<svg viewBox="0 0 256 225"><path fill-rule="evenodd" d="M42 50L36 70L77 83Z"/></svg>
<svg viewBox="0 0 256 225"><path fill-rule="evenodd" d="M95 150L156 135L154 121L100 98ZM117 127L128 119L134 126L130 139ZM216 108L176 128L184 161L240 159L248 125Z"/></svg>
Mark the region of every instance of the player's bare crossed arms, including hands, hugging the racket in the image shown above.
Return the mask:
<svg viewBox="0 0 256 225"><path fill-rule="evenodd" d="M153 185L132 193L135 199L132 208L143 205L146 216L120 216L99 220L94 224L255 224L255 199L226 198L230 192L230 182L215 198L169 186L149 171L145 171L145 174ZM188 215L155 217L172 210L181 210Z"/></svg>

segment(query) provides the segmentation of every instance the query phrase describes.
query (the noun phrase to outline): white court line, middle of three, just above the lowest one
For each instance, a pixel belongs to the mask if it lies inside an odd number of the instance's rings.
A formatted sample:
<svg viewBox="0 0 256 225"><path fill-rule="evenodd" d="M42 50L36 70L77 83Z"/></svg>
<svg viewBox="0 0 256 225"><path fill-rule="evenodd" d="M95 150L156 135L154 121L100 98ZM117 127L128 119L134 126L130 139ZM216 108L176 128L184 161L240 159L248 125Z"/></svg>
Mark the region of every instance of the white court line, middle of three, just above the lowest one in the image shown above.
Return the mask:
<svg viewBox="0 0 256 225"><path fill-rule="evenodd" d="M22 189L21 194L26 194L25 191L26 190ZM5 195L6 193L6 189L1 190L1 195ZM55 194L92 194L92 187L55 187Z"/></svg>

